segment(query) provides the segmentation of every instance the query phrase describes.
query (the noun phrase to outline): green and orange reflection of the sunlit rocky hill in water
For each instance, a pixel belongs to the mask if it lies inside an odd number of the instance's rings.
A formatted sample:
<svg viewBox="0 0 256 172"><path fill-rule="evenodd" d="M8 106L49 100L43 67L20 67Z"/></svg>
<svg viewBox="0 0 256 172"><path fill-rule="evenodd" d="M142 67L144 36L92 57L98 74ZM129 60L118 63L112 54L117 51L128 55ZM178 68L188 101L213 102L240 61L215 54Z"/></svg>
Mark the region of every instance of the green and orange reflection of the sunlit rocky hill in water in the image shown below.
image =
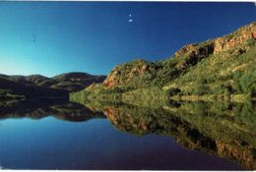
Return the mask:
<svg viewBox="0 0 256 172"><path fill-rule="evenodd" d="M172 102L155 109L125 104L100 108L120 131L169 136L184 147L256 169L256 109L251 103Z"/></svg>

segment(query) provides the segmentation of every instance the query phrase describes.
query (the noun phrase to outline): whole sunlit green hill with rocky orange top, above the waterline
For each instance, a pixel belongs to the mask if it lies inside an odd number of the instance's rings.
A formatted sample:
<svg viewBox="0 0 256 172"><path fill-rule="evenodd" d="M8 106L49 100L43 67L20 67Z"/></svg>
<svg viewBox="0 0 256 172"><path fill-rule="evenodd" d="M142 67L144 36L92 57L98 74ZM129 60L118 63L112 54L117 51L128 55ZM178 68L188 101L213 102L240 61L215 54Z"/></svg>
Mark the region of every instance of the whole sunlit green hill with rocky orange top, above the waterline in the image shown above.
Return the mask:
<svg viewBox="0 0 256 172"><path fill-rule="evenodd" d="M139 59L120 64L102 84L88 86L73 97L81 94L98 98L113 95L136 101L140 97L152 99L164 92L166 96L183 98L204 95L227 99L254 98L255 37L254 22L222 37L185 45L162 61Z"/></svg>

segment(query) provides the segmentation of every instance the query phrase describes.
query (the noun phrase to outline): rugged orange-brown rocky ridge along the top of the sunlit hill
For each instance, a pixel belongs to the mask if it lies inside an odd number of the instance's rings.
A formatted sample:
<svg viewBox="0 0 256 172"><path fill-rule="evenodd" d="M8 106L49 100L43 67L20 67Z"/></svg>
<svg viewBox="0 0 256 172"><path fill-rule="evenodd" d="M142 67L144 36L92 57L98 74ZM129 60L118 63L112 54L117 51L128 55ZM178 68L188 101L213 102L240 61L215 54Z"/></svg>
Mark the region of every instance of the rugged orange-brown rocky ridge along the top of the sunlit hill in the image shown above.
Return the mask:
<svg viewBox="0 0 256 172"><path fill-rule="evenodd" d="M159 78L165 80L165 84L186 73L191 66L195 66L202 59L211 55L230 51L230 55L239 55L255 47L253 42L256 36L256 23L251 23L241 29L222 37L207 40L205 42L189 44L178 50L172 58L159 63L150 63L144 60L135 60L121 64L110 72L103 82L106 87L129 85L137 79L141 82ZM252 42L253 45L246 45ZM246 45L246 46L244 46ZM146 76L147 75L147 76ZM160 83L159 81L157 81Z"/></svg>

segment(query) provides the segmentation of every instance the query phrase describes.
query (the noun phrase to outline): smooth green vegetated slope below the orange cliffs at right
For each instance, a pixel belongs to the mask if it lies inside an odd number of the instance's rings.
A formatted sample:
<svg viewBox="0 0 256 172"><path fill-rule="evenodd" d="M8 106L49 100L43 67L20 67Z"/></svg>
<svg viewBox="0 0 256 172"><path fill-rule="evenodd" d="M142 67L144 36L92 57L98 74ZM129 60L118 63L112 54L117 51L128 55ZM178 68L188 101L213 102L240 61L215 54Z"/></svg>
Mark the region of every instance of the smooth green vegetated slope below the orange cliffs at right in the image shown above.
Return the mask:
<svg viewBox="0 0 256 172"><path fill-rule="evenodd" d="M169 86L179 87L183 95L244 94L246 97L254 98L256 46L238 55L233 55L235 51L237 50L231 49L211 55L171 82Z"/></svg>

